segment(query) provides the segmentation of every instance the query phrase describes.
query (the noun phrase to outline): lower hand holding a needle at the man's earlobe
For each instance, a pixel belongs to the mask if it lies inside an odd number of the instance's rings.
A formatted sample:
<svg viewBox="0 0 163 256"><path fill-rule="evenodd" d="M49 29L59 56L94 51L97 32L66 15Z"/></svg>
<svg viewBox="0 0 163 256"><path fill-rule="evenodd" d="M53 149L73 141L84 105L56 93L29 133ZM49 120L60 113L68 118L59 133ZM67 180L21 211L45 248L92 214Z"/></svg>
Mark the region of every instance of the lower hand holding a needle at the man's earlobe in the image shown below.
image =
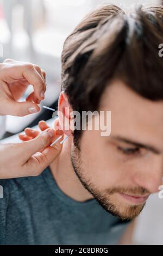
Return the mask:
<svg viewBox="0 0 163 256"><path fill-rule="evenodd" d="M39 175L61 152L59 141L48 146L56 138L55 131L47 129L31 141L1 145L0 179Z"/></svg>

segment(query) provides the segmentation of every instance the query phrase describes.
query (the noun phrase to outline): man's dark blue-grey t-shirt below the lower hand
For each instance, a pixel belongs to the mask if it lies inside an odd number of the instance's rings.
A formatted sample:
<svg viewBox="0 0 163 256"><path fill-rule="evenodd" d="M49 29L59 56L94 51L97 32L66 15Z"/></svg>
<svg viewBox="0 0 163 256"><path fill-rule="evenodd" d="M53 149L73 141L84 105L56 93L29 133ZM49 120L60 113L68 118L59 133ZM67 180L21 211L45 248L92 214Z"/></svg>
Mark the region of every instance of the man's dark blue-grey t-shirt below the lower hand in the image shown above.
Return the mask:
<svg viewBox="0 0 163 256"><path fill-rule="evenodd" d="M0 185L0 245L115 245L129 223L96 199L82 203L66 196L49 168Z"/></svg>

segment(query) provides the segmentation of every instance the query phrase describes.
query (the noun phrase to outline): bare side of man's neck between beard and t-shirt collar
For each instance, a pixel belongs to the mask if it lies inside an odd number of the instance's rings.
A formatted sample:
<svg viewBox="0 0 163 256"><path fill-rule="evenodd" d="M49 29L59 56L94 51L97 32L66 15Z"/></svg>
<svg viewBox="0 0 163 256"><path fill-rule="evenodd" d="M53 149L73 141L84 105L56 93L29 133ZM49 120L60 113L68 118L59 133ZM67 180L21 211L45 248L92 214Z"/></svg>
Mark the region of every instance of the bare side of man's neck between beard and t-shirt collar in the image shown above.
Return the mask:
<svg viewBox="0 0 163 256"><path fill-rule="evenodd" d="M89 191L83 187L71 163L72 137L63 144L60 155L50 164L52 175L59 188L68 196L78 202L85 202L93 198Z"/></svg>

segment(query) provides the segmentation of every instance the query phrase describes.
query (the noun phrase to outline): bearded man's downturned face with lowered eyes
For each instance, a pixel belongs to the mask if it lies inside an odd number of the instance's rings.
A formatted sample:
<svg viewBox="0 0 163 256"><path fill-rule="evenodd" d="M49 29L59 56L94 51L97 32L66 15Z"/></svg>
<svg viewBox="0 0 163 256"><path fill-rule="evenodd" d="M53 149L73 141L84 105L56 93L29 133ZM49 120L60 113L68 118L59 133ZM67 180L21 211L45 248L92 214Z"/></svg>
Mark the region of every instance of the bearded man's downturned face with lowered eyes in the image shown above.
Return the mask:
<svg viewBox="0 0 163 256"><path fill-rule="evenodd" d="M112 82L99 111L111 111L111 135L83 131L72 143L73 168L104 209L122 219L140 214L163 176L163 101L149 101L121 81Z"/></svg>

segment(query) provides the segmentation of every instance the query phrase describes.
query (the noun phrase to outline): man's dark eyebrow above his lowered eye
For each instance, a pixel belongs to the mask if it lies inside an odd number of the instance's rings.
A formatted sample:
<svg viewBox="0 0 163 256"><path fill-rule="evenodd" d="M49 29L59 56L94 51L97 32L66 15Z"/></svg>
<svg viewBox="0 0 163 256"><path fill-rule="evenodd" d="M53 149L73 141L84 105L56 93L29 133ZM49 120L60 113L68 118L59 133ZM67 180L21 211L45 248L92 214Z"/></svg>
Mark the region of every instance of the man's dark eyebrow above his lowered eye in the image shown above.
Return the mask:
<svg viewBox="0 0 163 256"><path fill-rule="evenodd" d="M142 144L142 143L139 143L139 142L135 142L133 141L132 139L128 139L128 138L124 138L124 137L121 137L121 136L113 136L111 137L113 139L116 139L117 141L122 141L122 142L126 142L128 144L131 144L131 145L135 145L136 147L139 147L139 148L145 148L145 149L148 149L150 151L152 151L154 154L161 154L161 151L154 148L153 146L151 145L147 145L147 144Z"/></svg>

